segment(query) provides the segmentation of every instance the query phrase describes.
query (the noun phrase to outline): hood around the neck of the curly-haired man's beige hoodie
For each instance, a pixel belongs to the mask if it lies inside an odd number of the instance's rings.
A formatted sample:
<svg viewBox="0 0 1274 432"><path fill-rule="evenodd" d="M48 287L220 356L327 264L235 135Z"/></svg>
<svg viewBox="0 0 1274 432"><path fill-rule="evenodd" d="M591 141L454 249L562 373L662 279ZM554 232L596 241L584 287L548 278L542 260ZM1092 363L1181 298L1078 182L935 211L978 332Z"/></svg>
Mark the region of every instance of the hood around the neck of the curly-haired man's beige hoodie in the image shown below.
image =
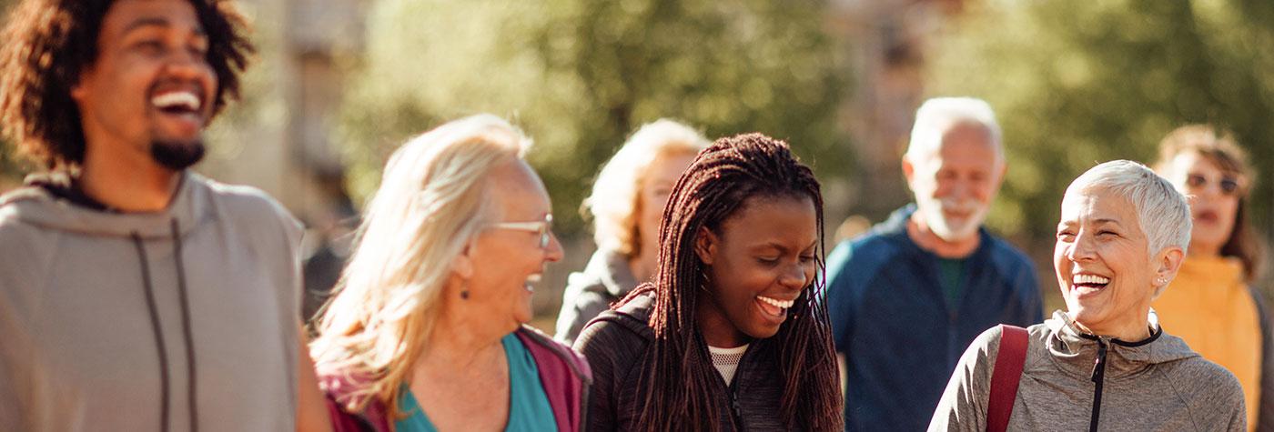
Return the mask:
<svg viewBox="0 0 1274 432"><path fill-rule="evenodd" d="M191 181L199 175L181 175L177 192L168 208L149 213L103 212L79 205L69 199L50 192L45 184L56 182L50 177L28 178L27 187L18 189L0 198L0 218L15 217L19 220L54 231L64 231L85 236L131 237L134 234L150 238L171 238L173 222L177 229L186 234L200 223L211 218L211 200L208 182Z"/></svg>

